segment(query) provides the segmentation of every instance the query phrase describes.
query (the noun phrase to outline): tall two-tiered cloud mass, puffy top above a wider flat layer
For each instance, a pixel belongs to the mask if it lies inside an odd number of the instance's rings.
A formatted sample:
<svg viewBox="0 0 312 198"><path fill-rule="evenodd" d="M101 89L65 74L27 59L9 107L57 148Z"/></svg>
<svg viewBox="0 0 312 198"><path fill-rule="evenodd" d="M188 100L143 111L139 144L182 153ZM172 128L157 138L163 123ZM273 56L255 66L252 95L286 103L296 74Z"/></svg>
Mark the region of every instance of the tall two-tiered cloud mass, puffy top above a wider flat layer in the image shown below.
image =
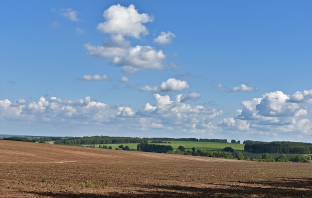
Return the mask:
<svg viewBox="0 0 312 198"><path fill-rule="evenodd" d="M120 4L112 5L104 11L104 22L99 23L97 29L110 34L110 39L102 45L84 44L88 55L100 58L111 58L108 63L120 66L126 73L135 73L145 69L164 69L175 64L165 65L165 55L162 50L152 46L130 45L126 36L139 39L149 32L145 23L153 21L153 17L146 13L139 13L133 4L128 7Z"/></svg>

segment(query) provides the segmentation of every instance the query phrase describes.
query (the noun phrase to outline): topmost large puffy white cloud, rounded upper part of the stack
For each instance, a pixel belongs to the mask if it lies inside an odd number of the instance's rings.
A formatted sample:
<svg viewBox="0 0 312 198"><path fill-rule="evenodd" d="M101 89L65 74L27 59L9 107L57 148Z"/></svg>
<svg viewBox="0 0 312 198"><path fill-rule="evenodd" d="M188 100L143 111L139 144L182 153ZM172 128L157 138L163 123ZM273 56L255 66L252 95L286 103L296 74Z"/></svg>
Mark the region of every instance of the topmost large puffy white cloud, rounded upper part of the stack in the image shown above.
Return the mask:
<svg viewBox="0 0 312 198"><path fill-rule="evenodd" d="M137 39L140 35L149 33L143 24L153 21L149 14L140 14L133 4L128 7L112 5L104 11L103 17L105 21L97 26L102 33L132 36Z"/></svg>

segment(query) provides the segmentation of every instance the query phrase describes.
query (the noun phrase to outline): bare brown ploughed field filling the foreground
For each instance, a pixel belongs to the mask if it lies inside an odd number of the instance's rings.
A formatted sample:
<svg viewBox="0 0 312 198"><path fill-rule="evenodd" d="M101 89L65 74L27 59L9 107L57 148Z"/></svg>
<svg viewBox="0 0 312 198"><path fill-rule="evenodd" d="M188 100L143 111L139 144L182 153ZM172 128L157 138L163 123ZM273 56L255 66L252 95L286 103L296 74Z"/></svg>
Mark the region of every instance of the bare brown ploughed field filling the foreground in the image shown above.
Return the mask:
<svg viewBox="0 0 312 198"><path fill-rule="evenodd" d="M1 198L312 198L312 164L0 140Z"/></svg>

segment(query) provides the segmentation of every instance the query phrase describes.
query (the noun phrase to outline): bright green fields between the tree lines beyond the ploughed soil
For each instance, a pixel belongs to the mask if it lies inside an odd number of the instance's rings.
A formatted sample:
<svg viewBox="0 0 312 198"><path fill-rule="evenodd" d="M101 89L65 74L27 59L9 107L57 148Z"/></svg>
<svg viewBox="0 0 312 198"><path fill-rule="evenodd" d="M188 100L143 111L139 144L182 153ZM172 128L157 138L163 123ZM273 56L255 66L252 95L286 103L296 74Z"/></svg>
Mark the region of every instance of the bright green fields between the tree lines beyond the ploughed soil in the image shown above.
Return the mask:
<svg viewBox="0 0 312 198"><path fill-rule="evenodd" d="M155 143L161 145L170 145L173 150L176 150L178 146L184 146L185 150L192 150L194 147L196 150L220 150L225 147L232 147L235 151L242 151L245 144L236 143L219 143L219 142L203 142L203 141L168 141L170 143ZM151 143L151 141L149 141ZM112 149L116 149L119 145L128 145L130 149L137 149L138 143L120 143L120 144L105 144L106 146L112 146ZM83 146L92 146L93 144L85 144ZM99 147L100 144L95 144L95 147ZM103 145L103 144L102 144Z"/></svg>

